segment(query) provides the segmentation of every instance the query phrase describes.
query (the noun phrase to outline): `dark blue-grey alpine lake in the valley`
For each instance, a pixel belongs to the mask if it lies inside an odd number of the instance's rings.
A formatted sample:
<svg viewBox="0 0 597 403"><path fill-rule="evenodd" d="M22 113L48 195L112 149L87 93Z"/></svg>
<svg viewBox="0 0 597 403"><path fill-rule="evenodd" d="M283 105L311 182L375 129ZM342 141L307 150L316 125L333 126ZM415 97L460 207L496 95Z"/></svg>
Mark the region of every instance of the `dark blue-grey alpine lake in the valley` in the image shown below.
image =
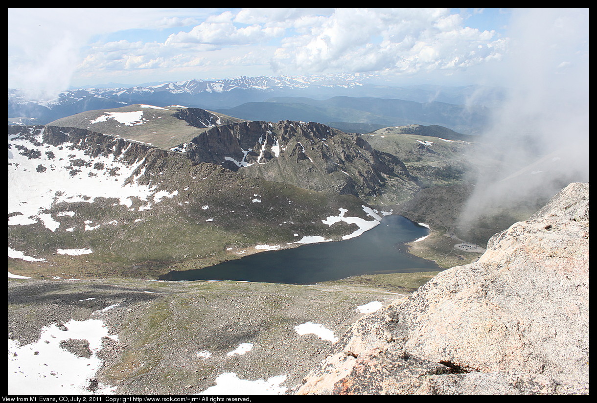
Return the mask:
<svg viewBox="0 0 597 403"><path fill-rule="evenodd" d="M361 236L339 242L265 251L198 270L170 272L166 280L240 280L315 284L364 274L442 270L434 262L406 252L404 242L429 229L402 216L386 216Z"/></svg>

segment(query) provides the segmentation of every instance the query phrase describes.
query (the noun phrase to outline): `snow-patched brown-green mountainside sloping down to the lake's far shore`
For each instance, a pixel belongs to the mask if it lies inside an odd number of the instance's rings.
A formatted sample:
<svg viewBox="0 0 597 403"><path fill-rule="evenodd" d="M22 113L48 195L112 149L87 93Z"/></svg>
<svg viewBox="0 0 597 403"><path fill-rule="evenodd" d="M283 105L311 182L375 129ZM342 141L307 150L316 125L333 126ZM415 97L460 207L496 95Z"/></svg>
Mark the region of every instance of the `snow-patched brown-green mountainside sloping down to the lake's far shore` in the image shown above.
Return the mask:
<svg viewBox="0 0 597 403"><path fill-rule="evenodd" d="M15 126L8 139L9 248L35 262L9 259L19 273L80 264L90 276L160 275L360 228L324 223L338 211L370 226L381 220L354 195L247 177L86 129Z"/></svg>

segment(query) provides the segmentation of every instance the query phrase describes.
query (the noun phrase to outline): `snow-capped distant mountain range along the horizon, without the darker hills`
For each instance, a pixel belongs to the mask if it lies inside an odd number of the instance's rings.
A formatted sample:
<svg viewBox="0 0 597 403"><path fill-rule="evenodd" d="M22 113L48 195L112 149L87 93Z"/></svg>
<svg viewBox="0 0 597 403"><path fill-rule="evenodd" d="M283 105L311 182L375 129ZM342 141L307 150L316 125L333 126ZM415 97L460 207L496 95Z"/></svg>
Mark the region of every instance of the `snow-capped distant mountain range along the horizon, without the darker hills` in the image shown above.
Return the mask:
<svg viewBox="0 0 597 403"><path fill-rule="evenodd" d="M392 87L390 85L368 84L358 76L311 77L241 77L216 81L187 80L165 82L147 87L127 88L78 88L59 94L44 94L39 91L8 89L8 118L17 122L19 118L35 118L38 123L47 124L86 110L118 107L127 104L155 104L168 106L183 104L201 109L236 107L254 101L265 101L276 96L306 96L327 99L334 96L381 97L406 99L417 102L442 101L455 104L474 103L494 106L502 96L500 88L471 87ZM442 96L445 94L446 96ZM488 94L489 97L479 96ZM497 98L496 98L497 97ZM284 119L290 118L285 116ZM264 120L264 119L259 119ZM279 120L279 119L276 119ZM292 119L295 120L295 119ZM303 120L303 119L296 119ZM312 119L307 119L312 120ZM325 123L325 122L323 122ZM411 123L411 122L409 122ZM436 122L432 122L436 123Z"/></svg>

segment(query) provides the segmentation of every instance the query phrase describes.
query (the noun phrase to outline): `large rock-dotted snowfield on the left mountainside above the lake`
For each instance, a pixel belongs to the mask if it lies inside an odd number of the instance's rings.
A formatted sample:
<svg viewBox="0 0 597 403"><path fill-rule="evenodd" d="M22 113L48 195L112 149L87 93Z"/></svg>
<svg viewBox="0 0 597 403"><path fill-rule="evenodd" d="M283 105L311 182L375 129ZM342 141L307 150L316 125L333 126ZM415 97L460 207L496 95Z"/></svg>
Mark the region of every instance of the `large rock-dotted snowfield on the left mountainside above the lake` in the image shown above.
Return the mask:
<svg viewBox="0 0 597 403"><path fill-rule="evenodd" d="M137 168L143 166L143 159L127 164L113 154L91 158L82 150L69 149L75 144L63 143L56 147L43 144L41 140L41 134L33 141L18 136L8 137L8 213L17 214L8 219L8 225L39 222L54 232L60 223L46 211L60 202L93 203L99 197L116 198L119 204L131 208L133 200L139 199L144 202L141 206L143 210L147 210L152 203L178 194L177 190L172 193L165 190L156 192L155 186L138 184L137 179L144 170L140 170L130 183L124 184ZM19 147L37 153L37 158L23 155ZM72 214L71 211L63 211L57 216ZM87 229L96 229L97 225Z"/></svg>

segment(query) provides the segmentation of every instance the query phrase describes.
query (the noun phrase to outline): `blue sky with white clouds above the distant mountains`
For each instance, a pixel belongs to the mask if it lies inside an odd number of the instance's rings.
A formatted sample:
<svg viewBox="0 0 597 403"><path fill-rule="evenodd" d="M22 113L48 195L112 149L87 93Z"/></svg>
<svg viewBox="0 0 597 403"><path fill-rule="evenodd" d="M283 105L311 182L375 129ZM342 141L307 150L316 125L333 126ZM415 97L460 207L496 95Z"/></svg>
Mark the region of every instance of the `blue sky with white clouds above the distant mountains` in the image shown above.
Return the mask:
<svg viewBox="0 0 597 403"><path fill-rule="evenodd" d="M588 42L588 10L580 13L587 15ZM509 33L515 14L498 8L8 8L8 87L324 73L398 84L500 85L500 62L516 39Z"/></svg>

